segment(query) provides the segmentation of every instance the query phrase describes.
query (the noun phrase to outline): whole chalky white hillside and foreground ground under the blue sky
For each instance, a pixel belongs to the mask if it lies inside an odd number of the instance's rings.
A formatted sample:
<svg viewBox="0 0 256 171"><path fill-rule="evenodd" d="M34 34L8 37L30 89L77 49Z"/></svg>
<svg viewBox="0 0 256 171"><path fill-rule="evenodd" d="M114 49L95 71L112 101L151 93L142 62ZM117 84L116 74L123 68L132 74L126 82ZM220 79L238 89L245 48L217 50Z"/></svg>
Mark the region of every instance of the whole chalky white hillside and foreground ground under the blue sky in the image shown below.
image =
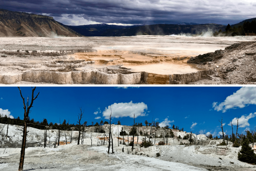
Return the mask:
<svg viewBox="0 0 256 171"><path fill-rule="evenodd" d="M4 124L0 124L2 130ZM107 125L102 126L105 130ZM131 129L131 126L114 125L114 154L106 153L107 147L103 145L102 133L92 133L92 141L90 130L93 127L86 127L86 134L83 144L77 145L75 140L71 144L60 145L53 148L56 130L49 130L47 137L47 147L43 147L44 130L28 127L27 147L25 154L24 170L234 170L247 171L256 170L255 165L240 162L237 154L241 147L232 147L232 143L227 146L217 146L222 140L207 140L205 135L197 135L200 138L198 145L189 145L188 140L178 139L180 135L183 137L186 132L174 130L174 138L168 138L168 144L158 145L163 138L153 139L154 146L144 148L140 147L140 143L144 136L139 136L138 144L135 138L134 150L128 146L128 138L124 136L126 145L118 145L118 132L120 127L124 130ZM17 170L20 156L20 140L21 133L16 129L20 126L9 125L8 137L6 136L6 128L1 133L0 146L0 170ZM143 126L140 128L145 132L150 132L150 127ZM170 130L168 130L169 132ZM153 129L157 135L161 134L161 129ZM68 140L70 140L70 131L66 132ZM158 135L158 136L159 136ZM73 132L73 136L77 136L77 131ZM193 134L193 137L196 136ZM148 138L147 138L148 139ZM49 142L50 140L50 142ZM65 141L65 135L61 132L61 141ZM119 136L122 140L122 136ZM151 139L152 140L152 139ZM129 142L131 137L129 137ZM185 145L180 145L183 142ZM92 143L92 146L91 146ZM106 143L106 141L105 141ZM65 144L65 143L64 143ZM50 146L50 147L49 147ZM124 149L124 152L122 152ZM111 150L110 150L111 151ZM159 157L156 154L159 153Z"/></svg>

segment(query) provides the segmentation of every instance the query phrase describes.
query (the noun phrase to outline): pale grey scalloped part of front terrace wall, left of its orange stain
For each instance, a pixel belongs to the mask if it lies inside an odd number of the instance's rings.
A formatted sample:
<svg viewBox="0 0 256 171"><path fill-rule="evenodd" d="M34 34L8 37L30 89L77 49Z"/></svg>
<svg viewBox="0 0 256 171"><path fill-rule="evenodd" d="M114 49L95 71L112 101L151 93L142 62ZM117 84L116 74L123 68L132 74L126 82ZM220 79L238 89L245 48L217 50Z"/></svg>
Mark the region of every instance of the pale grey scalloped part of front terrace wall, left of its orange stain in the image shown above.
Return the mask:
<svg viewBox="0 0 256 171"><path fill-rule="evenodd" d="M3 84L14 84L20 81L54 84L138 84L141 81L141 74L107 74L100 71L28 71L13 75L0 75L0 83Z"/></svg>

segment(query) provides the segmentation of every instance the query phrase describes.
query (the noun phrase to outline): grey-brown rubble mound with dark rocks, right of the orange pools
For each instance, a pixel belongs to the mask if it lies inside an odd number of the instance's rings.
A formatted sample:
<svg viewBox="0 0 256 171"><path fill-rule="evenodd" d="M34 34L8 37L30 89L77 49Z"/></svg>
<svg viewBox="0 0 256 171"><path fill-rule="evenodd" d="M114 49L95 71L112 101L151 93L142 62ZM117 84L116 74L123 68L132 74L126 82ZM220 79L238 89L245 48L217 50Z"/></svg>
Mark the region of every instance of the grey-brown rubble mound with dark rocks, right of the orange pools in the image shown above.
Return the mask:
<svg viewBox="0 0 256 171"><path fill-rule="evenodd" d="M236 43L190 58L188 63L214 70L209 79L190 84L256 84L256 42Z"/></svg>

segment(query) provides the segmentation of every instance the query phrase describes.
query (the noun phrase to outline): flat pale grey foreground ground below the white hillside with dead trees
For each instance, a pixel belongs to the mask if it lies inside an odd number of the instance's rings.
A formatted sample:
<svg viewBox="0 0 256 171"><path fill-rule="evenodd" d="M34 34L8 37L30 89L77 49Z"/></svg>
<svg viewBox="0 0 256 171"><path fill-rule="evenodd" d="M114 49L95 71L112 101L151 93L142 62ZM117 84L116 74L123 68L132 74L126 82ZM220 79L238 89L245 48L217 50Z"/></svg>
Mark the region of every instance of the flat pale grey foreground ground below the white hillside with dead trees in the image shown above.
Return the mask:
<svg viewBox="0 0 256 171"><path fill-rule="evenodd" d="M256 170L255 165L237 160L239 149L230 146L217 148L222 150L221 154L206 154L216 150L216 146L135 146L132 152L131 147L120 145L114 147L114 154L108 155L106 146L29 147L26 149L24 170ZM0 169L17 170L20 148L0 148L0 151ZM156 153L160 153L160 157Z"/></svg>

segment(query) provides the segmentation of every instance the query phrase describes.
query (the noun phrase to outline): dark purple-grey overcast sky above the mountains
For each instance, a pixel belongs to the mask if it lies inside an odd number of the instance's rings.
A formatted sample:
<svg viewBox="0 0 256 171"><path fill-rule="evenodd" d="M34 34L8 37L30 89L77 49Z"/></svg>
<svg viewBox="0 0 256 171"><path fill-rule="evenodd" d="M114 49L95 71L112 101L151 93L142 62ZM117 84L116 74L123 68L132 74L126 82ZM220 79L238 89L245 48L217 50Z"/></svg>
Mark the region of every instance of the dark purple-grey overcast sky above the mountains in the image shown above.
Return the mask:
<svg viewBox="0 0 256 171"><path fill-rule="evenodd" d="M256 17L255 0L1 0L0 8L49 15L66 25L235 24Z"/></svg>

